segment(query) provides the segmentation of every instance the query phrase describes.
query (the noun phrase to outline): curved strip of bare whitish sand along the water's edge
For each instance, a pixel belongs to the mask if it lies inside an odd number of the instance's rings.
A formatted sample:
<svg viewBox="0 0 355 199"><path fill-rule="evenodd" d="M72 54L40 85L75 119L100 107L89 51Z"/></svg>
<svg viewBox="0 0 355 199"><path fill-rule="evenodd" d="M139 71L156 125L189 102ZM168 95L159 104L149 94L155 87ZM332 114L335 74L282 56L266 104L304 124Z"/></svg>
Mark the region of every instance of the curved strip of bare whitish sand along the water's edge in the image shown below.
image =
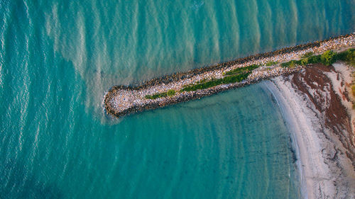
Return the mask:
<svg viewBox="0 0 355 199"><path fill-rule="evenodd" d="M291 138L296 149L297 166L300 171L302 198L338 198L348 195L351 188L342 187L342 169L329 162L324 153L335 153L335 144L329 143L322 127L324 120L309 98L297 93L290 81L283 76L263 83L283 112L291 130ZM324 93L327 95L327 93ZM341 186L341 187L339 187Z"/></svg>

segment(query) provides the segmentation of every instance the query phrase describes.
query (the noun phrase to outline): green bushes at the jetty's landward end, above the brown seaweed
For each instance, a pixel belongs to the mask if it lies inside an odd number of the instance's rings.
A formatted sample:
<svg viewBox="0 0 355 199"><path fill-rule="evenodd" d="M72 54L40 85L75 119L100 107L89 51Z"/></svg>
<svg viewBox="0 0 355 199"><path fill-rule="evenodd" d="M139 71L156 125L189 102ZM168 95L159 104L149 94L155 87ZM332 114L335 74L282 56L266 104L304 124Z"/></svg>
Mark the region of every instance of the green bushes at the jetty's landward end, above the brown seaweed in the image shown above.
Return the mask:
<svg viewBox="0 0 355 199"><path fill-rule="evenodd" d="M332 50L327 50L322 55L313 55L313 52L307 52L302 55L300 60L291 60L290 62L285 62L281 64L281 67L295 67L296 65L305 66L307 64L317 64L322 63L324 65L331 65L337 61L348 62L349 64L355 64L355 49L345 50L343 52L334 52Z"/></svg>

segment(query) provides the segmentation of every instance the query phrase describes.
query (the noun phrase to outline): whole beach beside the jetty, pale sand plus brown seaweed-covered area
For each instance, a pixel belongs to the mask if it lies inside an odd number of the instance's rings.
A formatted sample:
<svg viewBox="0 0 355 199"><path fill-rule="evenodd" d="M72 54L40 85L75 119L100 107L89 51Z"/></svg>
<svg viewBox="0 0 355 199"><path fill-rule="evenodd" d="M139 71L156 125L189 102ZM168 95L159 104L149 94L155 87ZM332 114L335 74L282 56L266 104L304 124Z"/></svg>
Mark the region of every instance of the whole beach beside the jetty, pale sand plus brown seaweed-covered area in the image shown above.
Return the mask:
<svg viewBox="0 0 355 199"><path fill-rule="evenodd" d="M345 64L316 64L264 81L283 111L303 198L354 198L354 110Z"/></svg>

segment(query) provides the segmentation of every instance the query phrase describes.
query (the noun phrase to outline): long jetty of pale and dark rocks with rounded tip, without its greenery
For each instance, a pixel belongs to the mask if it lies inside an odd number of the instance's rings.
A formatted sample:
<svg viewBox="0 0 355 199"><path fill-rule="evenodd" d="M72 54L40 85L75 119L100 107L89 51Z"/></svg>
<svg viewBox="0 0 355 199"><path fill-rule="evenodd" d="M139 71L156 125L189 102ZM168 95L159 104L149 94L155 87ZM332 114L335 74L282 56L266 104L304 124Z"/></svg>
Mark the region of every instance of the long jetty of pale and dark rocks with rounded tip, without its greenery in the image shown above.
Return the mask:
<svg viewBox="0 0 355 199"><path fill-rule="evenodd" d="M169 106L175 103L182 103L204 96L210 96L227 89L234 89L249 84L255 84L263 79L270 79L282 74L292 74L303 67L297 66L293 68L281 67L280 63L288 62L291 59L299 59L307 52L320 54L326 50L340 50L355 45L354 33L342 35L327 40L310 42L307 44L297 45L295 47L285 47L281 50L273 52L261 53L243 57L231 62L224 62L211 67L203 67L200 69L192 69L189 72L175 73L163 76L150 81L145 81L136 86L113 86L104 96L104 108L106 113L114 115L117 118L138 113L143 110L151 110L163 106ZM278 62L271 67L266 67L268 62ZM209 79L221 79L225 72L233 69L246 67L251 64L261 64L262 66L254 69L251 74L241 82L222 84L213 86L208 89L197 91L183 91L175 96L166 96L163 98L148 99L145 96L155 93L167 92L170 89L181 91L184 86L197 84L200 81Z"/></svg>

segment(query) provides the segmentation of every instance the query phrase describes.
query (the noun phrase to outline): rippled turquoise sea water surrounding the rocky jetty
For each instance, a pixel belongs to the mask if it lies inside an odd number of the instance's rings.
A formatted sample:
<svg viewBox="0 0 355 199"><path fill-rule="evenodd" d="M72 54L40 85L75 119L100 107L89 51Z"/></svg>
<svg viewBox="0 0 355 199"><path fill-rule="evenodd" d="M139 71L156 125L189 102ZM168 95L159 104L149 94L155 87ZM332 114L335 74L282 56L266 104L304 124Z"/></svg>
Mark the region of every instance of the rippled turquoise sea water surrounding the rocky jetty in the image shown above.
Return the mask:
<svg viewBox="0 0 355 199"><path fill-rule="evenodd" d="M253 85L116 120L114 84L352 33L354 1L0 1L0 198L300 198Z"/></svg>

